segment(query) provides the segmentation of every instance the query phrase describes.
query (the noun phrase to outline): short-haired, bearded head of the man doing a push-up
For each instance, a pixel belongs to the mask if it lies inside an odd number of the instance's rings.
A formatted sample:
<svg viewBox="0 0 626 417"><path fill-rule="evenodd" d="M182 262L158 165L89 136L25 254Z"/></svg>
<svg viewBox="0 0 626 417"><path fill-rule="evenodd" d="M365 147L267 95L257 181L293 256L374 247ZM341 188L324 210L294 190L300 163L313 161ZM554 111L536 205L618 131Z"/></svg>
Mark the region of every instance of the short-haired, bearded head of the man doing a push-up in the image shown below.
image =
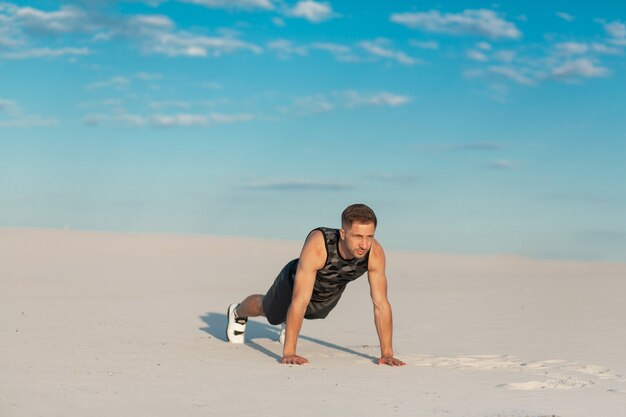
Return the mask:
<svg viewBox="0 0 626 417"><path fill-rule="evenodd" d="M362 258L372 247L376 215L365 204L353 204L341 213L339 236L349 257Z"/></svg>

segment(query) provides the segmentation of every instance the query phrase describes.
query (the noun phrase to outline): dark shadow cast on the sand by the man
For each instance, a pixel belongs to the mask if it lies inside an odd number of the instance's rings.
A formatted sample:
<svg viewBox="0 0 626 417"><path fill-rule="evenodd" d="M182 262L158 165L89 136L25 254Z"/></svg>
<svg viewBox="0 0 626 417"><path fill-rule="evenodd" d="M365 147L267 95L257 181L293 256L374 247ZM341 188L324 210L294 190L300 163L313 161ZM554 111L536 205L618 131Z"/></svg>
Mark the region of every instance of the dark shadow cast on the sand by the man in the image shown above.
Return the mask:
<svg viewBox="0 0 626 417"><path fill-rule="evenodd" d="M201 327L200 330L210 334L216 339L222 340L225 343L227 342L226 340L226 314L207 313L204 316L200 316L200 319L202 319L202 321L207 324L207 327ZM266 323L259 323L258 321L250 320L248 321L248 324L246 326L246 345L280 362L281 357L279 355L275 354L274 352L264 348L263 346L255 342L255 340L257 339L269 339L272 341L277 341L279 333L280 333L280 327L271 326ZM357 352L356 350L339 346L334 343L326 342L324 340L317 339L315 337L310 337L310 336L305 336L303 334L300 334L299 338L302 340L307 340L309 342L317 343L327 348L338 350L340 352L358 356L360 358L370 360L374 363L376 363L376 361L378 360L378 358L375 358L374 356L366 355L365 353Z"/></svg>

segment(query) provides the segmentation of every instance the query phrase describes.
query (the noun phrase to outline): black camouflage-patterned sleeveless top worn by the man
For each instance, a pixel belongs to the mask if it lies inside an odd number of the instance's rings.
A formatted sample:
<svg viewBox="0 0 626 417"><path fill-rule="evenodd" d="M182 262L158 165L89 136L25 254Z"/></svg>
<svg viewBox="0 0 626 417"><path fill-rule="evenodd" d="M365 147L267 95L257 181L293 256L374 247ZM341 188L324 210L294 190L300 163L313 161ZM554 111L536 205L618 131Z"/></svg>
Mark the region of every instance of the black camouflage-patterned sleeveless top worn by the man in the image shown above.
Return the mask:
<svg viewBox="0 0 626 417"><path fill-rule="evenodd" d="M363 258L344 259L339 254L339 230L328 227L315 230L324 234L326 264L317 271L305 317L324 318L337 305L346 285L367 272L370 252Z"/></svg>

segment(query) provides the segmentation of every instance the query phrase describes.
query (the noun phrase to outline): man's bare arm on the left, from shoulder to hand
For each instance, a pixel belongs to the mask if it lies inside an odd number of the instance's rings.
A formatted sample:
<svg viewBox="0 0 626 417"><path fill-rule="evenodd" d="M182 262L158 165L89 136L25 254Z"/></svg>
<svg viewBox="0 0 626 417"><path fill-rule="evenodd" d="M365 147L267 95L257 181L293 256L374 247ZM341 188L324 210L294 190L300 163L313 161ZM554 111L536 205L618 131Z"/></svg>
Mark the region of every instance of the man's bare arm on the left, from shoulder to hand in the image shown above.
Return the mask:
<svg viewBox="0 0 626 417"><path fill-rule="evenodd" d="M300 254L298 269L294 280L291 305L287 311L287 326L285 328L285 344L281 363L303 365L309 361L296 354L298 335L302 328L302 321L306 308L311 300L315 275L326 263L326 244L321 231L313 231L307 238Z"/></svg>

